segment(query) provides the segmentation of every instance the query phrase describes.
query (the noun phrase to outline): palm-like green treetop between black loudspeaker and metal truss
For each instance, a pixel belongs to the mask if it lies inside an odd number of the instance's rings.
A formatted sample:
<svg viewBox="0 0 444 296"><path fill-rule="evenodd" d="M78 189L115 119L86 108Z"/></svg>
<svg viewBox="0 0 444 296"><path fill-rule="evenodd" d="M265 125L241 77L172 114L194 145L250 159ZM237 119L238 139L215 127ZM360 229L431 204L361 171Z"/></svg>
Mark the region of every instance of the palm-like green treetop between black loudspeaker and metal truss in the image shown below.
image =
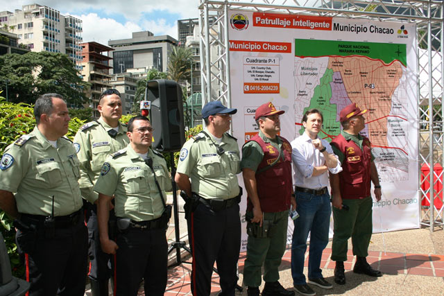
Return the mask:
<svg viewBox="0 0 444 296"><path fill-rule="evenodd" d="M168 61L168 78L176 82L191 76L192 53L189 47L173 47Z"/></svg>

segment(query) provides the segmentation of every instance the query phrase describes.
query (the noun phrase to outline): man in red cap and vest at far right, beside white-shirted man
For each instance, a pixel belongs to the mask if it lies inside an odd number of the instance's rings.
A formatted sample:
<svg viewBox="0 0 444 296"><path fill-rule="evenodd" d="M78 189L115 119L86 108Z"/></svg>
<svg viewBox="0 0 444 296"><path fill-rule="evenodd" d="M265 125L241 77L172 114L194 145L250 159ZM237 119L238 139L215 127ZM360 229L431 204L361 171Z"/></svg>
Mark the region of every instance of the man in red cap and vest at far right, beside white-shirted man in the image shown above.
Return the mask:
<svg viewBox="0 0 444 296"><path fill-rule="evenodd" d="M370 141L359 134L364 130L364 116L367 110L361 110L356 103L341 110L340 121L343 127L332 141L332 148L342 164L343 171L337 175L330 173L332 186L332 205L334 235L332 260L336 261L334 281L345 284L344 261L347 260L348 238L352 238L353 254L357 256L353 272L381 277L379 270L374 270L366 260L368 244L373 232L372 198L370 180L375 187L376 200L381 200L381 186ZM343 209L348 206L348 210Z"/></svg>

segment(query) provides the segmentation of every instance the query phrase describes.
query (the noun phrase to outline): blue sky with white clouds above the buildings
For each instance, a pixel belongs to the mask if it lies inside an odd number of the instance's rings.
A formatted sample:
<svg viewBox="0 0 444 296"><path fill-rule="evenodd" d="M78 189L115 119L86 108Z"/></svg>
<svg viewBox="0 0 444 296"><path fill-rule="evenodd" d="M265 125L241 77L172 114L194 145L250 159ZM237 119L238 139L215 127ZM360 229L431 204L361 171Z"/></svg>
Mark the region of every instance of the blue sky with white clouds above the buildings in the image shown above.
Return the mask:
<svg viewBox="0 0 444 296"><path fill-rule="evenodd" d="M37 3L83 21L83 42L108 45L108 40L128 39L133 32L178 37L178 19L198 17L198 0L0 0L0 11L14 12Z"/></svg>

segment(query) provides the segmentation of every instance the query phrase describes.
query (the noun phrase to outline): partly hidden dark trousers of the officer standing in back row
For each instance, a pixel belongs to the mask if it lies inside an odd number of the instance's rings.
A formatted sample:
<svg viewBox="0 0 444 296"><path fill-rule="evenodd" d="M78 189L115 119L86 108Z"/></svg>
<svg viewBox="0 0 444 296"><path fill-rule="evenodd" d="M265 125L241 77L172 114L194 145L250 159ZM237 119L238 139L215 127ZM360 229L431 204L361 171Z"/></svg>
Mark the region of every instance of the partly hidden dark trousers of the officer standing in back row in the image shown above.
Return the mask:
<svg viewBox="0 0 444 296"><path fill-rule="evenodd" d="M88 277L96 281L108 281L112 275L111 256L102 251L97 223L97 208L89 204L86 209L86 223L88 227ZM110 211L110 218L115 217L114 211Z"/></svg>

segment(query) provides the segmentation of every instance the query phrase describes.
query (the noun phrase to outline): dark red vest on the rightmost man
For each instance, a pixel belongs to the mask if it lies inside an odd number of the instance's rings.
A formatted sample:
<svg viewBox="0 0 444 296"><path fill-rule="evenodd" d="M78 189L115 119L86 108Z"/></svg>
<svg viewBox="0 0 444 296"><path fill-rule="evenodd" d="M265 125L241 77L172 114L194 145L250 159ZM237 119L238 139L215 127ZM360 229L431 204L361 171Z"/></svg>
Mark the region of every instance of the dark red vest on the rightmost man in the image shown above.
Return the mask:
<svg viewBox="0 0 444 296"><path fill-rule="evenodd" d="M362 150L353 141L347 141L339 134L332 141L344 155L342 172L339 173L341 197L345 200L356 200L370 196L370 140L364 137Z"/></svg>

